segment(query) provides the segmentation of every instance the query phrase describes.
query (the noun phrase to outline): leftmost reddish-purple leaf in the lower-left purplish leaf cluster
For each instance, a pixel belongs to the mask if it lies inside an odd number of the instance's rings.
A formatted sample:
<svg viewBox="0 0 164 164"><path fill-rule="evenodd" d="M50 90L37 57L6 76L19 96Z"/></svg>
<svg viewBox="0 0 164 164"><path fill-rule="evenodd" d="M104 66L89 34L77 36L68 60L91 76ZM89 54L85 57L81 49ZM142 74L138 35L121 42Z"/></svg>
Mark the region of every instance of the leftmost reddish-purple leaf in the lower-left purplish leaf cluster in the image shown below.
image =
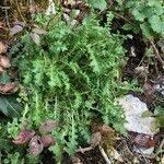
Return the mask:
<svg viewBox="0 0 164 164"><path fill-rule="evenodd" d="M12 142L15 143L15 144L24 144L26 142L28 142L33 136L35 134L35 131L34 130L22 130L20 133L19 133L19 137L16 140L13 140Z"/></svg>

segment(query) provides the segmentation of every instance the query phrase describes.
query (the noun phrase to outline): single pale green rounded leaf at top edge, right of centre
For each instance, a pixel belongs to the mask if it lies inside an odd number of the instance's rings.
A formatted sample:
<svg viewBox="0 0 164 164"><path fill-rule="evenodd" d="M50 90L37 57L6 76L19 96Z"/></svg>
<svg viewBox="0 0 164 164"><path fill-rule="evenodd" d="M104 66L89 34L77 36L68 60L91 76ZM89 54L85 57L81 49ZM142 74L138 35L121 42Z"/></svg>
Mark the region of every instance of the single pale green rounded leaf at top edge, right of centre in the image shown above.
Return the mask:
<svg viewBox="0 0 164 164"><path fill-rule="evenodd" d="M94 9L105 10L106 9L106 1L105 0L90 0L90 4Z"/></svg>

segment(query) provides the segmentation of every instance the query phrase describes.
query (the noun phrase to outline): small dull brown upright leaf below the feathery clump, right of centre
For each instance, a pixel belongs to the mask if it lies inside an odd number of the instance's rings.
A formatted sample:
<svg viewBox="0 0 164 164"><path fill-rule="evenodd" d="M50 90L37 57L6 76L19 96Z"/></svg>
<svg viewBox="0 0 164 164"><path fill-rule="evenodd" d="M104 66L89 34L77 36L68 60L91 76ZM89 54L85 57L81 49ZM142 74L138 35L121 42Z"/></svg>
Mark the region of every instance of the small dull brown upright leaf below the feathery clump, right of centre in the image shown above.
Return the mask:
<svg viewBox="0 0 164 164"><path fill-rule="evenodd" d="M98 145L102 142L102 134L101 132L94 132L91 136L91 147L95 148L96 145Z"/></svg>

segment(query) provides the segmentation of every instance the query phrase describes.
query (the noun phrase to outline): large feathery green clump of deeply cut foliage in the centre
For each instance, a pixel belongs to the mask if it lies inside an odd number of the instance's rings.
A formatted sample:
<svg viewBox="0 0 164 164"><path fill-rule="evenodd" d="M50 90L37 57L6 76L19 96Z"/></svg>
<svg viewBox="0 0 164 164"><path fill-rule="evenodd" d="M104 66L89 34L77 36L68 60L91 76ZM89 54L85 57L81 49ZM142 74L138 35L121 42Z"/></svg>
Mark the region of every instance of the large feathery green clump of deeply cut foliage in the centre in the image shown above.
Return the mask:
<svg viewBox="0 0 164 164"><path fill-rule="evenodd" d="M49 148L57 157L63 151L73 155L80 143L89 143L95 118L125 133L122 109L114 103L128 90L120 71L125 37L112 34L109 23L101 26L94 15L77 27L59 17L47 24L44 17L37 20L43 28L48 24L40 44L27 33L12 51L22 49L15 59L24 87L20 128L25 121L26 128L35 129L48 119L58 122L52 132L56 145Z"/></svg>

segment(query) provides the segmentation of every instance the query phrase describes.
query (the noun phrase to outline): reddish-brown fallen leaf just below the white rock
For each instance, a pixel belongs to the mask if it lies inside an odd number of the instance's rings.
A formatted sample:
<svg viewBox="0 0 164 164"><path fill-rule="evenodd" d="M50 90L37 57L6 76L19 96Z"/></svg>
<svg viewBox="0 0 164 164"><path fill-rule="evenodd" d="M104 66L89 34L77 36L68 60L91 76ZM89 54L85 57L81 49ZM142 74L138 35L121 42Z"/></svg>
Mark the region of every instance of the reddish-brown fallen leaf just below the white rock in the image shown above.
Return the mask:
<svg viewBox="0 0 164 164"><path fill-rule="evenodd" d="M155 145L156 140L151 139L151 137L147 134L137 134L137 137L134 138L134 143L137 145L150 149Z"/></svg>

